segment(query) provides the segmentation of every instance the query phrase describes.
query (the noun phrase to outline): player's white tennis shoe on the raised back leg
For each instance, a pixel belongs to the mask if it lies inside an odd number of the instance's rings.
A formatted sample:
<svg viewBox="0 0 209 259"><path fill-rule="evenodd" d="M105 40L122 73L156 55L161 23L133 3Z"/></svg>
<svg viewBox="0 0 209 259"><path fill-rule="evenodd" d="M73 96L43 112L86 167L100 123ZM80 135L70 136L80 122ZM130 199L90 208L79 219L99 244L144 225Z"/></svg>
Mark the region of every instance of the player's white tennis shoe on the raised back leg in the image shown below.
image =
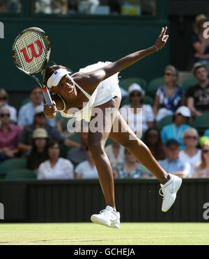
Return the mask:
<svg viewBox="0 0 209 259"><path fill-rule="evenodd" d="M182 179L169 173L170 180L165 185L160 185L160 195L163 197L162 212L167 212L176 200L177 191L180 189Z"/></svg>

